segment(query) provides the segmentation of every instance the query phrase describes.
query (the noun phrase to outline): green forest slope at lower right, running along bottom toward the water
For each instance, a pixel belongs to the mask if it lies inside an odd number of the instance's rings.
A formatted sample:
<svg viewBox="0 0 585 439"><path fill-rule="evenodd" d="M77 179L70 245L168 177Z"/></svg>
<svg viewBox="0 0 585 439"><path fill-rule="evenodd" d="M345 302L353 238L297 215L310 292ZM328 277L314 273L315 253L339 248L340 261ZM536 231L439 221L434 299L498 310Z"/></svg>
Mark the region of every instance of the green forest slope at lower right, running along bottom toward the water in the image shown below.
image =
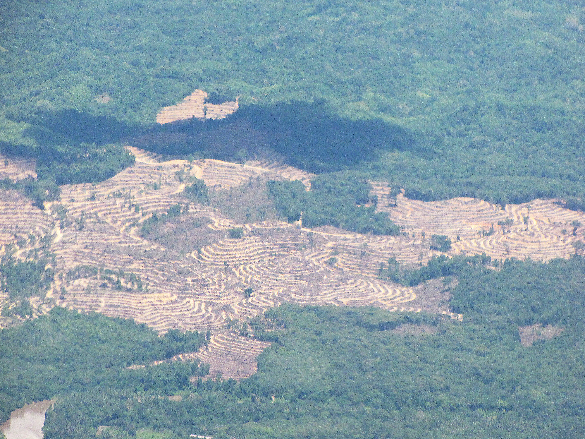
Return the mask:
<svg viewBox="0 0 585 439"><path fill-rule="evenodd" d="M463 264L452 291L463 322L285 304L251 322L256 338L273 344L249 379L201 380L173 400L143 392L63 397L46 431L87 437L108 425L137 437L153 429L216 438L580 438L584 269L581 256L508 260L497 271ZM528 347L519 332L527 324L550 325L556 336Z"/></svg>

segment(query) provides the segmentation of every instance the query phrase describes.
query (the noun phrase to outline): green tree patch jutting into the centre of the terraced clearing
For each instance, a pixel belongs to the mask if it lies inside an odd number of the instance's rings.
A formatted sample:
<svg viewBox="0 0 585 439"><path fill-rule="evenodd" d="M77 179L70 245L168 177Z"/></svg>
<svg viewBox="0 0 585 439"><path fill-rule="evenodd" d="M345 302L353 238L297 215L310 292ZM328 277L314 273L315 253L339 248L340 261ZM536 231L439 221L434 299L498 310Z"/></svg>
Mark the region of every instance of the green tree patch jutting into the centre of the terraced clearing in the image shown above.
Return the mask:
<svg viewBox="0 0 585 439"><path fill-rule="evenodd" d="M388 214L376 212L370 201L371 185L355 177L319 176L306 191L300 181L269 181L267 184L277 210L288 219L301 218L304 227L333 225L354 232L395 235L398 227ZM376 201L376 200L373 200Z"/></svg>

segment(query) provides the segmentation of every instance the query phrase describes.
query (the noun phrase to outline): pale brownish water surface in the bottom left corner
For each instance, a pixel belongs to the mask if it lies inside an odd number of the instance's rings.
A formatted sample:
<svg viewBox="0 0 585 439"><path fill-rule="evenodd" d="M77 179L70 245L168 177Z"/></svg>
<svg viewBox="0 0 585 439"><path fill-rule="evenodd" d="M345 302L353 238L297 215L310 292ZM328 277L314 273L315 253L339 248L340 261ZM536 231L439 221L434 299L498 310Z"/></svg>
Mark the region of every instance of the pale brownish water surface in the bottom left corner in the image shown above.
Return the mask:
<svg viewBox="0 0 585 439"><path fill-rule="evenodd" d="M43 439L44 413L54 401L26 404L11 413L10 419L0 426L6 439Z"/></svg>

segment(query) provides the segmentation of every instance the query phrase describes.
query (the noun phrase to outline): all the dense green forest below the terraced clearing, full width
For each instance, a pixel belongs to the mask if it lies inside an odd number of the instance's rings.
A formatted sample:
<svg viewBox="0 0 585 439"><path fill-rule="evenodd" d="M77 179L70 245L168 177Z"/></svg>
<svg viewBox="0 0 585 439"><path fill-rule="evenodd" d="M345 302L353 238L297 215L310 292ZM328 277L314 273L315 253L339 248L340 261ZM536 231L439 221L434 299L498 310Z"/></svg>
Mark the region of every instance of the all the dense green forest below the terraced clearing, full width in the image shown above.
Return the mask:
<svg viewBox="0 0 585 439"><path fill-rule="evenodd" d="M445 260L433 263L437 266ZM48 438L580 438L585 434L585 260L454 263L463 321L378 308L286 304L249 321L271 341L258 372L209 379L164 363L203 334L54 308L0 331L2 413L57 396ZM440 270L440 269L439 269ZM520 344L518 327L562 328ZM189 376L199 379L189 382ZM181 398L168 399L168 395Z"/></svg>

